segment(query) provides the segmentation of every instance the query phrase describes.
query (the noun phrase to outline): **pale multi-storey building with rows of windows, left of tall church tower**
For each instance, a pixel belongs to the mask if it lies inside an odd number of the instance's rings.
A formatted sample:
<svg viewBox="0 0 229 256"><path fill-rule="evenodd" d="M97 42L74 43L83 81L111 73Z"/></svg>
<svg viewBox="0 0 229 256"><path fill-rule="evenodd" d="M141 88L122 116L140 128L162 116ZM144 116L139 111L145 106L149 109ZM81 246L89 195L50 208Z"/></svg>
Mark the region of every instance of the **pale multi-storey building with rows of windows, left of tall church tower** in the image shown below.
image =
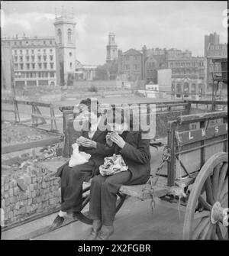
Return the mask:
<svg viewBox="0 0 229 256"><path fill-rule="evenodd" d="M53 37L3 38L11 47L15 86L56 86Z"/></svg>

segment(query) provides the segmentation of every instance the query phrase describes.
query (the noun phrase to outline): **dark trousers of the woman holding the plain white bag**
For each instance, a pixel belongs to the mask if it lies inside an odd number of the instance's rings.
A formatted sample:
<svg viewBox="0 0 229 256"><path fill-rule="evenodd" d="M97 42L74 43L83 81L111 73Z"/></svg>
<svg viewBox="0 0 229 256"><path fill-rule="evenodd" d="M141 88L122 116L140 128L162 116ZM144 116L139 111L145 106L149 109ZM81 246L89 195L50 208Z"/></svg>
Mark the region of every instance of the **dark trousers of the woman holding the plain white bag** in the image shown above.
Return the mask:
<svg viewBox="0 0 229 256"><path fill-rule="evenodd" d="M94 162L68 167L61 177L61 210L63 212L79 212L82 207L82 183L92 177ZM67 167L65 167L67 168ZM65 172L68 172L67 174Z"/></svg>

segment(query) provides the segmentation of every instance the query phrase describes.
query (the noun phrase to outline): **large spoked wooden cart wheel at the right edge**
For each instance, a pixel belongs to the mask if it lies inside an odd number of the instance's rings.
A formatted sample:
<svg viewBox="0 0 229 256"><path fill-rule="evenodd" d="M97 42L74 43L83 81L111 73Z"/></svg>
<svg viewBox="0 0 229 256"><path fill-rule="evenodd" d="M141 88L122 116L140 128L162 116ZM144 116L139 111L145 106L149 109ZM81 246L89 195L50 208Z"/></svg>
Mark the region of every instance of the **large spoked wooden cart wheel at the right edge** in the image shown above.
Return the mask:
<svg viewBox="0 0 229 256"><path fill-rule="evenodd" d="M185 212L185 240L228 239L227 170L227 153L219 152L198 173Z"/></svg>

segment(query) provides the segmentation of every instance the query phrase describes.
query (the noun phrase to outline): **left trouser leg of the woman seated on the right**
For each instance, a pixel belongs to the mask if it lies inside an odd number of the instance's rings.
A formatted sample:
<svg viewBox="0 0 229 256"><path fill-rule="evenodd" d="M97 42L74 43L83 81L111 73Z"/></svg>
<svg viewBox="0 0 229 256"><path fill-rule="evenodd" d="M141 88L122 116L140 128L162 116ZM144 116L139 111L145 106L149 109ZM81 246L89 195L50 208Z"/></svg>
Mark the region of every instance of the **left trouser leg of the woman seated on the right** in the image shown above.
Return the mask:
<svg viewBox="0 0 229 256"><path fill-rule="evenodd" d="M90 189L90 219L101 219L101 186L105 182L106 177L97 175L92 179Z"/></svg>

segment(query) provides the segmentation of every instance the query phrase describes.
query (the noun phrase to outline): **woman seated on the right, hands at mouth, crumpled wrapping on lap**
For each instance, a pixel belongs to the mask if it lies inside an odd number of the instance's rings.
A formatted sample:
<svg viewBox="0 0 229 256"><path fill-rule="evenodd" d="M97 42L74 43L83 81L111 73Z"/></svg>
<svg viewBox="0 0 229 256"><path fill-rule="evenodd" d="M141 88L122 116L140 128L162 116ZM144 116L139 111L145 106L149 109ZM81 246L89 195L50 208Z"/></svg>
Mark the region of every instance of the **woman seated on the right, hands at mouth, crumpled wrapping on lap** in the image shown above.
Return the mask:
<svg viewBox="0 0 229 256"><path fill-rule="evenodd" d="M111 176L93 177L89 206L93 224L89 240L106 240L113 234L116 194L121 186L143 184L150 177L150 140L141 138L140 131L133 131L129 119L122 113L121 122L115 120L115 124L108 124L111 132L106 135L107 147L103 154L107 157L121 154L128 169Z"/></svg>

